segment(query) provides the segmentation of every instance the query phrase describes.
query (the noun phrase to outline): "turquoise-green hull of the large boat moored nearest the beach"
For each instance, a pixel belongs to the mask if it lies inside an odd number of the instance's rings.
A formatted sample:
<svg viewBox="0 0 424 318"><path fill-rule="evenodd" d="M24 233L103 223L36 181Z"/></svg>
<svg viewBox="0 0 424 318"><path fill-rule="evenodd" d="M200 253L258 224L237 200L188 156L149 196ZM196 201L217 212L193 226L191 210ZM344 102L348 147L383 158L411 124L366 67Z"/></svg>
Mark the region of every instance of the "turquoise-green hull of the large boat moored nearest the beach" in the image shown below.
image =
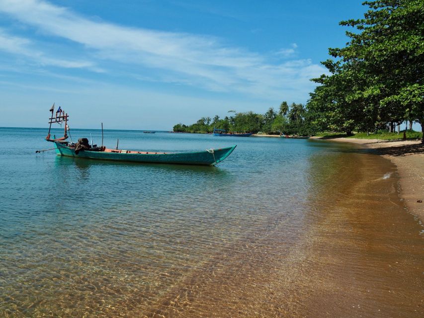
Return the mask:
<svg viewBox="0 0 424 318"><path fill-rule="evenodd" d="M237 145L222 149L189 152L189 153L118 153L102 151L80 151L77 155L75 149L55 142L56 154L58 156L76 157L97 160L128 161L128 162L151 162L151 163L176 163L195 165L215 165L227 158Z"/></svg>

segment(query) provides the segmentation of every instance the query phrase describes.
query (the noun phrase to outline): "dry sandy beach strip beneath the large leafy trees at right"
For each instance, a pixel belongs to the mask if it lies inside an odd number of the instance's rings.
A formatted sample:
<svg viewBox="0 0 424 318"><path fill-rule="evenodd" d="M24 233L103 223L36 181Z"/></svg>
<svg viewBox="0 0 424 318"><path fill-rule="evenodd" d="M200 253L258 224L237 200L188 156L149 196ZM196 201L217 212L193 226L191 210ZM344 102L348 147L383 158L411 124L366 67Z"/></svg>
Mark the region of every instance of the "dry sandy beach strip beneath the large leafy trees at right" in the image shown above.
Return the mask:
<svg viewBox="0 0 424 318"><path fill-rule="evenodd" d="M389 159L395 164L399 175L400 197L408 211L424 223L424 145L421 141L355 138L327 140L352 143L364 148L375 149L379 156ZM419 200L423 202L420 203Z"/></svg>

